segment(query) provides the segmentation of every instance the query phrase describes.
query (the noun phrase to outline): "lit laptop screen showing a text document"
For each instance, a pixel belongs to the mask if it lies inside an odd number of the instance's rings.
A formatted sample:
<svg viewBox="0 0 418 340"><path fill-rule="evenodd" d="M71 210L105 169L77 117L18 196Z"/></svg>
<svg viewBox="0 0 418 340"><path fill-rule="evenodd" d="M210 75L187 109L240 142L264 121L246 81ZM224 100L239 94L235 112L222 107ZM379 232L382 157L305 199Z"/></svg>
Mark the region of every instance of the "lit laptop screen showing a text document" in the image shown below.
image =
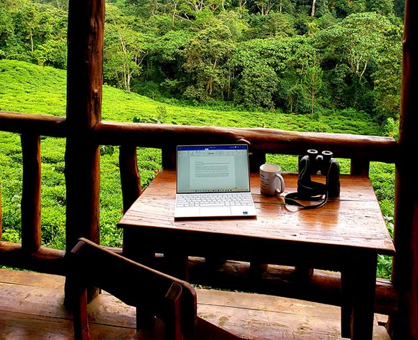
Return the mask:
<svg viewBox="0 0 418 340"><path fill-rule="evenodd" d="M177 193L249 190L247 145L177 147Z"/></svg>

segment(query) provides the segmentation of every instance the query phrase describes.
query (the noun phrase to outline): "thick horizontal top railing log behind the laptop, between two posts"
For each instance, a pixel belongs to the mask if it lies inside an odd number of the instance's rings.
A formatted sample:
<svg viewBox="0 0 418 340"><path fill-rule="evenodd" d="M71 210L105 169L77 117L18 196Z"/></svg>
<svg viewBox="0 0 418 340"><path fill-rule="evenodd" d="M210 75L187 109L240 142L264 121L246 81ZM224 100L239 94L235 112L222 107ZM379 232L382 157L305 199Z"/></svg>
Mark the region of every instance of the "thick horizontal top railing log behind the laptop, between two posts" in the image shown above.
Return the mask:
<svg viewBox="0 0 418 340"><path fill-rule="evenodd" d="M389 137L346 133L315 133L276 129L194 127L169 124L99 122L94 127L96 143L134 144L142 147L173 149L190 143L250 143L251 151L273 154L305 154L308 148L329 149L334 156L394 163L396 140ZM158 136L158 138L155 138Z"/></svg>

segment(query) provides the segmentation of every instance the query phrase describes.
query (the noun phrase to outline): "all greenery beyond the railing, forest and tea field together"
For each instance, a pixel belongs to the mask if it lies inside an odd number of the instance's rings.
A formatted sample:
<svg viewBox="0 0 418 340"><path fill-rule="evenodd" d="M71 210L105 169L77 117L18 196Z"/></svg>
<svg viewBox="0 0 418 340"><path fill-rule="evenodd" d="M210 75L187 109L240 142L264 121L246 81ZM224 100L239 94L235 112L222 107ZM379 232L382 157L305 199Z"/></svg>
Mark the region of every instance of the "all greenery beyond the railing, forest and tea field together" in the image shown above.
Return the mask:
<svg viewBox="0 0 418 340"><path fill-rule="evenodd" d="M296 0L106 6L103 120L397 138L403 1L317 1L315 13L311 1ZM67 10L62 0L0 2L0 110L65 115ZM42 140L42 241L56 248L65 247L64 147ZM118 149L102 145L100 153L102 243L121 245ZM268 160L297 171L295 156ZM145 187L160 152L139 149L138 162ZM0 165L2 239L17 242L22 150L12 133L0 131ZM346 160L340 165L349 171ZM391 230L393 166L372 163L371 179ZM378 275L389 274L380 257Z"/></svg>

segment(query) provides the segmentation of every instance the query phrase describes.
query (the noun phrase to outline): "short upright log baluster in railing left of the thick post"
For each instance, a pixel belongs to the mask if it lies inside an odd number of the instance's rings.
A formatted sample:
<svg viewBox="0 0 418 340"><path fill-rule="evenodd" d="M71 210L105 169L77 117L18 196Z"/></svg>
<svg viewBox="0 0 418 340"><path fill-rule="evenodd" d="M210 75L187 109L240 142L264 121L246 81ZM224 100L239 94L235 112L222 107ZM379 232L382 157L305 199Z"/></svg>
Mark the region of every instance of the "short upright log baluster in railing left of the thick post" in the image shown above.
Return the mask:
<svg viewBox="0 0 418 340"><path fill-rule="evenodd" d="M40 248L40 136L22 134L22 249L33 254Z"/></svg>

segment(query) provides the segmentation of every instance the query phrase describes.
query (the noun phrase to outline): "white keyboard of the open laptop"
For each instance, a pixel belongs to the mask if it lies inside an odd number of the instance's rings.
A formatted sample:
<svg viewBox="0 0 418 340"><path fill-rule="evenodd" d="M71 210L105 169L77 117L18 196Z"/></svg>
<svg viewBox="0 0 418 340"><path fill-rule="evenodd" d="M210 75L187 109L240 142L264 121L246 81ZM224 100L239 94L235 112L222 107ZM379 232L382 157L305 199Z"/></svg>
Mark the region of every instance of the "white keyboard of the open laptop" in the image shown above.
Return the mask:
<svg viewBox="0 0 418 340"><path fill-rule="evenodd" d="M198 193L177 195L177 207L225 207L252 205L251 193Z"/></svg>

